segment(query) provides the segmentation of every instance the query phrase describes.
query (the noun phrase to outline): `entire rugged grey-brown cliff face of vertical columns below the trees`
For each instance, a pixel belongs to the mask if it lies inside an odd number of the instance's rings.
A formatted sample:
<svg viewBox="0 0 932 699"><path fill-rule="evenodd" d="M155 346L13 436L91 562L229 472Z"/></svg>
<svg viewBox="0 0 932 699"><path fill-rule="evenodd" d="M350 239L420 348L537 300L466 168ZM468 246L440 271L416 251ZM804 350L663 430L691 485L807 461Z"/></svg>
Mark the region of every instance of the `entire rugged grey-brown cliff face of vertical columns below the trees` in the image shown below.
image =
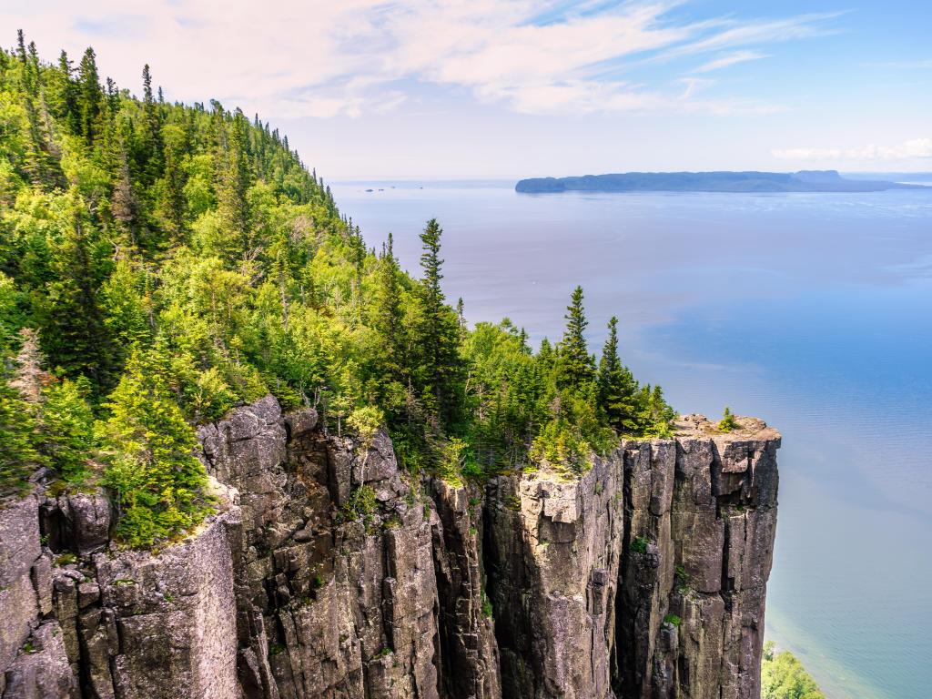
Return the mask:
<svg viewBox="0 0 932 699"><path fill-rule="evenodd" d="M264 399L199 429L218 513L157 553L101 493L4 504L0 696L757 697L779 435L740 422L482 489Z"/></svg>

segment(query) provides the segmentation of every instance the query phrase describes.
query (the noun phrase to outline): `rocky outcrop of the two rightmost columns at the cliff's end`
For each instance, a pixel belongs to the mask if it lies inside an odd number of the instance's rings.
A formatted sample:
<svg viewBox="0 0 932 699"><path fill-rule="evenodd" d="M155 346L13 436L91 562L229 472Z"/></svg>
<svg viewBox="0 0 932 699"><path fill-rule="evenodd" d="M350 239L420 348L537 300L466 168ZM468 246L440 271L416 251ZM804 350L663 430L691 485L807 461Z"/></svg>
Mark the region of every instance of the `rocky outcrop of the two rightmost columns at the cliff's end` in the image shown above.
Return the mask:
<svg viewBox="0 0 932 699"><path fill-rule="evenodd" d="M760 696L780 436L705 418L580 478L489 484L489 590L514 697Z"/></svg>

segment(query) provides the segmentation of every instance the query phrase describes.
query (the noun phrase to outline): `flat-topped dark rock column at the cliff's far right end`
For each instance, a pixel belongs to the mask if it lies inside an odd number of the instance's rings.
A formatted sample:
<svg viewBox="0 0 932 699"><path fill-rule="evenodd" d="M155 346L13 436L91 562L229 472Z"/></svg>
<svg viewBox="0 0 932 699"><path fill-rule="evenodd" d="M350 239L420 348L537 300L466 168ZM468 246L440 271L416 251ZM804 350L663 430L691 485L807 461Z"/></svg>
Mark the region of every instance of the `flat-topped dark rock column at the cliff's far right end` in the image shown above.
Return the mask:
<svg viewBox="0 0 932 699"><path fill-rule="evenodd" d="M756 699L776 527L780 435L756 418L626 441L625 699Z"/></svg>

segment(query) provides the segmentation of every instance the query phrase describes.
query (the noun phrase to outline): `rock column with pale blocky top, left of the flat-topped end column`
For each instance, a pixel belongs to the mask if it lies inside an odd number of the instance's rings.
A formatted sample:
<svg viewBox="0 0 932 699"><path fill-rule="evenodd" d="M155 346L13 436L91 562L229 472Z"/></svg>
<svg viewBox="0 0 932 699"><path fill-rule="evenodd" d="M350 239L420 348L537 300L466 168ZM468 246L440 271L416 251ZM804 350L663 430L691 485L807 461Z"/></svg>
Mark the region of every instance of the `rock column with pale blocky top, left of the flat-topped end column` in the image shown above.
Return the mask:
<svg viewBox="0 0 932 699"><path fill-rule="evenodd" d="M487 562L503 696L613 696L620 463L616 454L581 477L539 471L490 483Z"/></svg>

